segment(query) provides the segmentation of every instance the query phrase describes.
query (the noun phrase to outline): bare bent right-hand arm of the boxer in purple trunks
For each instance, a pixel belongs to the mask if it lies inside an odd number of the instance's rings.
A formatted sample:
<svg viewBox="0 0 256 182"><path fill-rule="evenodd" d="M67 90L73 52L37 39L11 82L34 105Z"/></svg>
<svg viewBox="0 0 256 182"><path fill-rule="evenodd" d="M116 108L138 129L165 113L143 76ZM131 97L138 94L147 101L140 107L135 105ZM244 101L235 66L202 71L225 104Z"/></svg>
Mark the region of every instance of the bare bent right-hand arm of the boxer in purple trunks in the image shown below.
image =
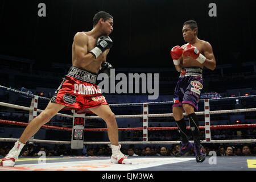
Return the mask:
<svg viewBox="0 0 256 182"><path fill-rule="evenodd" d="M214 70L216 68L216 60L213 54L213 49L210 43L205 42L204 43L204 56L207 58L205 62L203 63L205 67Z"/></svg>

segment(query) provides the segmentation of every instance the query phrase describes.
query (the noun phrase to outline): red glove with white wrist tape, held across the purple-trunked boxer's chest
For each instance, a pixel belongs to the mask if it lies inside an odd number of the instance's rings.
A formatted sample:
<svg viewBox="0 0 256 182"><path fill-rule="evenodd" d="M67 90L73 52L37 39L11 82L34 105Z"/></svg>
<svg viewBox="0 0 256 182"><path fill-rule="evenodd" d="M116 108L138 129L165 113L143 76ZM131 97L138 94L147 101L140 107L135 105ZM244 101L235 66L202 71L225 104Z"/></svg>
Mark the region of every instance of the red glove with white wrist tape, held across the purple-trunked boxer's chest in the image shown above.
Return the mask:
<svg viewBox="0 0 256 182"><path fill-rule="evenodd" d="M193 59L199 61L199 63L203 64L206 59L204 55L202 55L195 46L188 44L183 51L183 56L190 56Z"/></svg>

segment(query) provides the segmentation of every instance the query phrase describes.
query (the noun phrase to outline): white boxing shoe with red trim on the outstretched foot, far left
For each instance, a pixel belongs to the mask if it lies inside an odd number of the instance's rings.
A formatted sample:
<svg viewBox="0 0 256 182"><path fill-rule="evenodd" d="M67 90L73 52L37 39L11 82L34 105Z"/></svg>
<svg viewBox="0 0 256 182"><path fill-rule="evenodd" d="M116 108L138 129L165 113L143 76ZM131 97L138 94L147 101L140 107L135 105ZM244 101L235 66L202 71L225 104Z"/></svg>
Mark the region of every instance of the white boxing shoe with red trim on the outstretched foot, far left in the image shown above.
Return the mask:
<svg viewBox="0 0 256 182"><path fill-rule="evenodd" d="M15 165L15 161L19 158L19 153L22 150L24 144L19 142L15 142L14 147L9 151L9 154L5 156L5 158L1 161L2 167L13 167Z"/></svg>

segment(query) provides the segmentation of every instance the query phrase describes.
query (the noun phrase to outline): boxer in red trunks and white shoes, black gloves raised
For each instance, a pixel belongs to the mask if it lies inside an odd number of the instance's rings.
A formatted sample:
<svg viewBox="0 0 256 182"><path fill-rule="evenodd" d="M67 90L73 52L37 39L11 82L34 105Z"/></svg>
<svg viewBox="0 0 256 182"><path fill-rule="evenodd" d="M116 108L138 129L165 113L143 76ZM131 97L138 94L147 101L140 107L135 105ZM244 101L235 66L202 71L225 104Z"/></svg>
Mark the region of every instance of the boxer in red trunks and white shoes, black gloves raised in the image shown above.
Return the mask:
<svg viewBox="0 0 256 182"><path fill-rule="evenodd" d="M112 148L111 162L131 164L127 156L120 151L115 115L96 85L97 73L101 65L106 65L106 56L113 46L108 36L112 31L112 15L100 11L93 17L92 30L77 32L72 44L72 67L46 109L32 119L9 154L2 159L1 166L14 166L27 140L35 135L42 125L49 122L58 111L67 109L75 109L77 113L84 113L89 109L104 119Z"/></svg>

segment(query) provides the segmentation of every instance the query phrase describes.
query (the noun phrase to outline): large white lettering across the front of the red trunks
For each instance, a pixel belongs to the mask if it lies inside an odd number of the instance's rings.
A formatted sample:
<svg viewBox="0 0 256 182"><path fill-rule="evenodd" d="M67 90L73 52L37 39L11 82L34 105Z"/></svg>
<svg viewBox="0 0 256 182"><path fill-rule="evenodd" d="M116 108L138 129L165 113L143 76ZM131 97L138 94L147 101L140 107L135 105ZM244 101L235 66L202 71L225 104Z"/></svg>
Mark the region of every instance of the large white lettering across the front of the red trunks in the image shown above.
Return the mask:
<svg viewBox="0 0 256 182"><path fill-rule="evenodd" d="M101 89L96 89L93 85L85 86L84 84L74 84L74 93L78 93L81 95L92 95L101 93Z"/></svg>

